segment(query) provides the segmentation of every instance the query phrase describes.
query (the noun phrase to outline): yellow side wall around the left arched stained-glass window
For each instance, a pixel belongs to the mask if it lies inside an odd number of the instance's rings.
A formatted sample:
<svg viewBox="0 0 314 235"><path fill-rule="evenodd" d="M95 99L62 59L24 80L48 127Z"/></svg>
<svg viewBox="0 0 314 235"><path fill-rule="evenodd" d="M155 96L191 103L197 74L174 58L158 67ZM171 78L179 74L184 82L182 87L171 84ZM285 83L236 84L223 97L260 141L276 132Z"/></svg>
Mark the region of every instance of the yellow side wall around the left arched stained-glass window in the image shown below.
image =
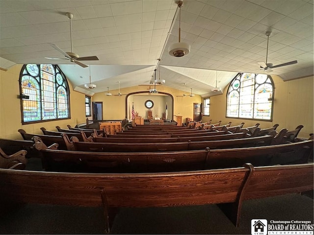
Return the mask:
<svg viewBox="0 0 314 235"><path fill-rule="evenodd" d="M85 95L73 91L69 84L71 119L22 125L21 104L17 98L20 94L21 69L22 65L15 65L8 71L0 70L0 138L22 139L18 129L24 129L27 133L42 134L41 127L56 131L55 126L67 128L67 125L74 127L78 123L86 122Z"/></svg>

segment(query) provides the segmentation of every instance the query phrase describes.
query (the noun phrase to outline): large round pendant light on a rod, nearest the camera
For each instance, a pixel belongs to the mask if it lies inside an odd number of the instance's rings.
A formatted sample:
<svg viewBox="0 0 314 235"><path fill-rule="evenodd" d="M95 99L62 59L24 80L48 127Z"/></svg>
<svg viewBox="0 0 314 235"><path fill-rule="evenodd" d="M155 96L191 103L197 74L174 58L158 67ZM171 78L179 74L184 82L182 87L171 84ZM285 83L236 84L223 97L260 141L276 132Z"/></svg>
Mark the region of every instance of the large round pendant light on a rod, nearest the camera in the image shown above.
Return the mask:
<svg viewBox="0 0 314 235"><path fill-rule="evenodd" d="M181 7L183 6L183 1L178 2L179 8L179 43L174 43L169 47L169 54L175 57L182 57L190 53L191 46L187 43L181 42ZM177 9L178 9L177 8Z"/></svg>

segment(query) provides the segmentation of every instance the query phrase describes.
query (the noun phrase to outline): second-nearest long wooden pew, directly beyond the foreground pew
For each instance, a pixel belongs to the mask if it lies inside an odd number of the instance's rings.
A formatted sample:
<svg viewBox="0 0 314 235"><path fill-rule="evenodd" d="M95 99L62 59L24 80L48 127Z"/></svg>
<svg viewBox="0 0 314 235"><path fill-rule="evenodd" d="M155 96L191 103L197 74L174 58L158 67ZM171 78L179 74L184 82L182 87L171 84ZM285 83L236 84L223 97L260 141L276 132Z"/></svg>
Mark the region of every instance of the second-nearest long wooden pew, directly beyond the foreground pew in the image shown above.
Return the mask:
<svg viewBox="0 0 314 235"><path fill-rule="evenodd" d="M90 146L87 146L90 144ZM271 146L188 151L99 152L98 143L80 142L90 151L47 149L41 141L34 146L42 152L43 168L71 172L156 172L238 167L245 163L257 166L307 163L313 151L313 140ZM91 146L95 145L93 149ZM110 148L112 145L108 145ZM145 145L143 145L145 147ZM101 146L100 146L101 147ZM112 147L111 147L112 148ZM121 146L120 146L121 148ZM152 148L152 146L151 146ZM186 143L188 149L188 143ZM163 152L162 152L163 151Z"/></svg>

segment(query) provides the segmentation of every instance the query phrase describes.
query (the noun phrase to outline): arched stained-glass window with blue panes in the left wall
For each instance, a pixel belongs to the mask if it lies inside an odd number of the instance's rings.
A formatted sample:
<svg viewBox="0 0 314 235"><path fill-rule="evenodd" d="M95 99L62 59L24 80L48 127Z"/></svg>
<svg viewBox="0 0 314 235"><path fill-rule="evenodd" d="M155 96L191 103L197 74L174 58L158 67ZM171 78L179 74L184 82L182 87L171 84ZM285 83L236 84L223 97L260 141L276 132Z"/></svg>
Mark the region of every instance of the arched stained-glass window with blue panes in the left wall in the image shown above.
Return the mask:
<svg viewBox="0 0 314 235"><path fill-rule="evenodd" d="M20 84L23 124L70 118L69 85L57 65L24 65Z"/></svg>

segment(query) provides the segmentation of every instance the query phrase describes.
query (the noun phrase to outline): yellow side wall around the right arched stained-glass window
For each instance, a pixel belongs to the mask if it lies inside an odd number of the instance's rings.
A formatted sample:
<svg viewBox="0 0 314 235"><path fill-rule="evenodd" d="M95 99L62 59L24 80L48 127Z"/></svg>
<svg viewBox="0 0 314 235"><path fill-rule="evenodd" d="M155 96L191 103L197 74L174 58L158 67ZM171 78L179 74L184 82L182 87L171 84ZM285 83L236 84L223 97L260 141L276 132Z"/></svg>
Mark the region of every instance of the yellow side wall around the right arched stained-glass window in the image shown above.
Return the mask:
<svg viewBox="0 0 314 235"><path fill-rule="evenodd" d="M273 121L226 118L228 87L224 90L224 94L210 97L210 116L203 117L203 121L212 119L212 123L215 123L222 120L222 124L231 121L232 125L238 125L243 121L244 127L253 126L259 122L261 128L272 127L278 123L277 131L283 128L294 130L298 125L303 125L298 136L309 138L309 134L314 133L313 76L286 82L278 76L273 75L272 78L275 84Z"/></svg>

